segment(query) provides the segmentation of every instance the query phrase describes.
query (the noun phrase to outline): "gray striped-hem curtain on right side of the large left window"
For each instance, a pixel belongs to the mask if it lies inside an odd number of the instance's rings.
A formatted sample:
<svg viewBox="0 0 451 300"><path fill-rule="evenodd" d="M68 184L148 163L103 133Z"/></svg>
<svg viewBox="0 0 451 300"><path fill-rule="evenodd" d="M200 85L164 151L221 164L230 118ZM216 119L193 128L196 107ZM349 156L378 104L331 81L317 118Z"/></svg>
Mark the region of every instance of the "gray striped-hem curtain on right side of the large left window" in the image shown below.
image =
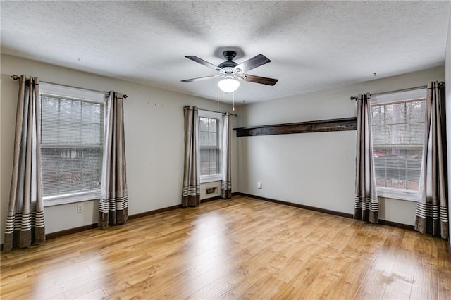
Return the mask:
<svg viewBox="0 0 451 300"><path fill-rule="evenodd" d="M128 218L123 98L121 93L110 92L106 102L104 185L99 203L99 227L123 224Z"/></svg>

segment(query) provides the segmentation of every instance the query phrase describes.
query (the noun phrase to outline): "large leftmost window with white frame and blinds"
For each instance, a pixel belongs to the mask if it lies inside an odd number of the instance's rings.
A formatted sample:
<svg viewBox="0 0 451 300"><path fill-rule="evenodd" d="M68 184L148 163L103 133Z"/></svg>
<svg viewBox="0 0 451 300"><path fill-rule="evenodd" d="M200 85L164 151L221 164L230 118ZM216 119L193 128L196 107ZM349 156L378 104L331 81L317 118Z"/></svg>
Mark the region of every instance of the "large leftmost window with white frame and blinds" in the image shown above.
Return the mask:
<svg viewBox="0 0 451 300"><path fill-rule="evenodd" d="M104 101L102 93L41 85L44 205L99 198Z"/></svg>

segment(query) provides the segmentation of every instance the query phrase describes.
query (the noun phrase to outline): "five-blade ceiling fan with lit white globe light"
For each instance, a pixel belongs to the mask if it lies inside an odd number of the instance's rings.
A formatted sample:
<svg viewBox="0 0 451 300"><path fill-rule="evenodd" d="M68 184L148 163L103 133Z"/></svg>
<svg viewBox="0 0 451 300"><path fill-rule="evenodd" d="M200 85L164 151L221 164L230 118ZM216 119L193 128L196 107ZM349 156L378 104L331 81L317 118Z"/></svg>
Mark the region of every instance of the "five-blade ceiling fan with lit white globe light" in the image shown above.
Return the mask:
<svg viewBox="0 0 451 300"><path fill-rule="evenodd" d="M254 56L253 58L249 58L247 61L240 63L238 65L237 63L235 63L235 61L233 61L233 58L235 58L236 55L237 53L235 51L232 50L224 51L223 56L224 58L226 58L227 61L224 61L219 65L214 65L213 63L204 61L202 58L199 58L197 56L185 56L186 58L195 61L196 63L205 65L207 68L216 70L218 74L205 77L185 79L182 80L182 82L193 82L198 80L223 77L224 79L218 82L218 87L221 90L223 90L223 92L229 93L235 92L237 88L240 86L240 82L238 82L237 80L245 80L249 82L260 83L263 85L276 85L276 82L278 82L277 79L245 74L245 72L249 70L257 68L260 65L269 63L270 62L269 58L267 58L263 54L259 54L257 56Z"/></svg>

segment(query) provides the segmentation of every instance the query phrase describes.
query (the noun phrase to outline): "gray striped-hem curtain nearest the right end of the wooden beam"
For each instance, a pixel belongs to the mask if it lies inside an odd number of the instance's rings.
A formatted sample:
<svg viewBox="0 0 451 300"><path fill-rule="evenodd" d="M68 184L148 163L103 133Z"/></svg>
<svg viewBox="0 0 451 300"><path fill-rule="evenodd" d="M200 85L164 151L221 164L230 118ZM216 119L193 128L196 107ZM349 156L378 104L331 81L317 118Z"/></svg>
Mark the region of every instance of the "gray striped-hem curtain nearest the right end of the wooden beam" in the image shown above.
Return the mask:
<svg viewBox="0 0 451 300"><path fill-rule="evenodd" d="M379 204L374 177L369 94L359 94L358 98L354 219L378 223Z"/></svg>

